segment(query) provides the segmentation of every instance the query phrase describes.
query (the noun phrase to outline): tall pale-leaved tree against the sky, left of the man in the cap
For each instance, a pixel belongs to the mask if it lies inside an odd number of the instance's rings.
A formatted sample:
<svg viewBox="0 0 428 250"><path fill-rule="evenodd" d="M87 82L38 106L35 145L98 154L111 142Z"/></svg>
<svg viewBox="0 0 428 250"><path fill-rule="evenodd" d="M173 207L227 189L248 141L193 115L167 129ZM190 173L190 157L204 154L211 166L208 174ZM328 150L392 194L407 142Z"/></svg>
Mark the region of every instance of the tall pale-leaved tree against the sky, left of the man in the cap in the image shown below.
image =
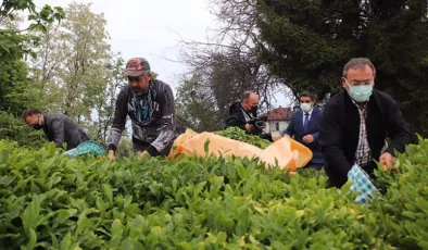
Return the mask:
<svg viewBox="0 0 428 250"><path fill-rule="evenodd" d="M106 64L111 59L104 15L89 4L71 3L60 27L61 63L58 85L65 96L60 100L64 113L73 118L90 118L93 95L105 89Z"/></svg>

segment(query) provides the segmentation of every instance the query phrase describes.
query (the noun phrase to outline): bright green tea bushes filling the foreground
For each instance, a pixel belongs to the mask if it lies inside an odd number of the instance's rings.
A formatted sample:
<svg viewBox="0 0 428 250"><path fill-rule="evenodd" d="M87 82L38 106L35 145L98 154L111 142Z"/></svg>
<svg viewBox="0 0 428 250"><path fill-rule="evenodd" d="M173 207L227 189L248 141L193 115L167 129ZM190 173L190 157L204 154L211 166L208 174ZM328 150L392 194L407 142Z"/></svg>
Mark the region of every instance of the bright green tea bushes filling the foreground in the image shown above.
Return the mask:
<svg viewBox="0 0 428 250"><path fill-rule="evenodd" d="M249 159L67 159L0 141L0 249L428 249L428 140L354 202ZM380 168L379 168L380 170Z"/></svg>

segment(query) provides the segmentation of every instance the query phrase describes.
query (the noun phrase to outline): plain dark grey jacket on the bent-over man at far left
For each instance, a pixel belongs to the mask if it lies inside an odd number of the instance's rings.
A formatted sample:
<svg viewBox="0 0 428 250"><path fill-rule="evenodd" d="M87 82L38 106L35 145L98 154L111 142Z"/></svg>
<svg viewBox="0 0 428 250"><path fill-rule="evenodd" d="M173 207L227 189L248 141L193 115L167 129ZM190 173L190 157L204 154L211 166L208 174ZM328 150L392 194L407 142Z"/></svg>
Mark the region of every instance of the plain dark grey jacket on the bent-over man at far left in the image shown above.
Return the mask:
<svg viewBox="0 0 428 250"><path fill-rule="evenodd" d="M48 140L54 141L58 148L63 148L63 143L66 142L66 150L71 150L89 140L84 129L64 114L46 113L43 121L42 128Z"/></svg>

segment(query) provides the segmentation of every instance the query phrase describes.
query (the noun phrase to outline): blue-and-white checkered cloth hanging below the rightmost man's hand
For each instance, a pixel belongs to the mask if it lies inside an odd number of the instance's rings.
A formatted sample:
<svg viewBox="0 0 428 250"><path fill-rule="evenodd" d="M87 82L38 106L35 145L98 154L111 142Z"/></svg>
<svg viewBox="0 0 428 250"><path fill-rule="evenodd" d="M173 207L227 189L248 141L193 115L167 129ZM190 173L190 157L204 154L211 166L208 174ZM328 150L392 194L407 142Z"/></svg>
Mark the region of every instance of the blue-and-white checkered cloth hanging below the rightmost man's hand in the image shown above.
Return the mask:
<svg viewBox="0 0 428 250"><path fill-rule="evenodd" d="M355 198L356 202L367 204L368 201L375 198L375 193L378 192L368 174L356 164L348 172L348 179L352 182L351 191L358 192Z"/></svg>

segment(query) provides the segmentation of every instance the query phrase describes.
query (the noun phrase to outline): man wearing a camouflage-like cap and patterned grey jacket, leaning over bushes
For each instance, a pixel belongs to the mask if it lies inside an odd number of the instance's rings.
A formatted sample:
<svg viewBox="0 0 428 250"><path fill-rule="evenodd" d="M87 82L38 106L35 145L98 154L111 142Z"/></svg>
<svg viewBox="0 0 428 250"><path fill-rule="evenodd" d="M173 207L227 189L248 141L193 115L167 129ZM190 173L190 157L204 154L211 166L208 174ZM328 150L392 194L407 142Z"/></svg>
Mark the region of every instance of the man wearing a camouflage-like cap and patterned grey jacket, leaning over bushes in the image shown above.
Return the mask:
<svg viewBox="0 0 428 250"><path fill-rule="evenodd" d="M125 86L116 100L109 135L109 158L115 151L125 129L126 116L133 126L134 152L151 157L167 155L175 139L175 105L169 85L152 78L149 62L133 58L126 64Z"/></svg>

